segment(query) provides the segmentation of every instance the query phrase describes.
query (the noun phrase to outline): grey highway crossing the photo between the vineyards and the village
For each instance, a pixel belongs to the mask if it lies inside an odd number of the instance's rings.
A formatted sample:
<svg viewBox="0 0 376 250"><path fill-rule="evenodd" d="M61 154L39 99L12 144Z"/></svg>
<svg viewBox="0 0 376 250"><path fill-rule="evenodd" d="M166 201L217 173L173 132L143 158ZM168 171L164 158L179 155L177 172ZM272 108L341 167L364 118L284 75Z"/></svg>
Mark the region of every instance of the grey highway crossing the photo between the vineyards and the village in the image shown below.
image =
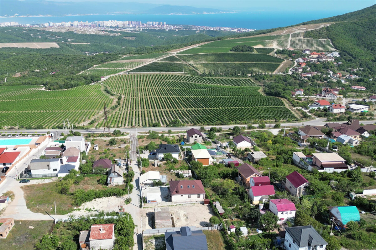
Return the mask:
<svg viewBox="0 0 376 250"><path fill-rule="evenodd" d="M337 121L338 123L344 123L346 121ZM295 123L281 123L281 128L283 127L302 127L306 125L310 126L324 126L326 124L326 118L311 120L311 121L303 121L303 122L295 122ZM359 123L363 124L373 124L376 123L376 120L365 120L365 121L359 121ZM266 128L273 128L275 123L266 124ZM239 124L239 125L224 125L224 126L204 126L205 129L210 129L211 127L221 127L222 129L232 129L234 126L239 127L247 127L247 124ZM253 126L258 127L258 124L253 124ZM136 133L136 132L148 132L149 130L153 130L156 132L167 132L171 129L171 131L185 131L191 128L200 129L200 126L188 126L188 127L139 127L139 128L112 128L111 132L114 131L114 129L118 129L121 132L127 132L127 133ZM45 134L47 131L50 131L51 133L56 133L56 135L60 135L61 133L66 133L66 130L58 129L58 130L52 130L52 129L42 129L42 130L35 130L35 129L20 129L20 130L3 130L2 132L8 132L9 133L37 133L37 134ZM70 130L68 130L69 132ZM80 133L103 133L102 129L73 129L73 131L77 131ZM5 136L2 136L5 137ZM12 136L14 137L14 136Z"/></svg>

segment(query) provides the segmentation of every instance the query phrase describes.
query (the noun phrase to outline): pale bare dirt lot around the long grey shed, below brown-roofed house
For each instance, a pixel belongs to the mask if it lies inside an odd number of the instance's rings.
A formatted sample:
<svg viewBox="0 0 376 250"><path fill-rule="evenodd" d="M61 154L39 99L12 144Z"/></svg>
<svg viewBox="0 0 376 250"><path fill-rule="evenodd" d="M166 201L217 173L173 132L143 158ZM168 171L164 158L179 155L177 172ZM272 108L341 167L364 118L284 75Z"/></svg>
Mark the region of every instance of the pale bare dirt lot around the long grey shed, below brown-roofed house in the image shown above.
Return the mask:
<svg viewBox="0 0 376 250"><path fill-rule="evenodd" d="M183 204L169 206L172 215L173 227L180 228L182 226L205 226L209 224L209 219L214 214L209 205L202 204ZM143 208L143 230L151 229L154 207Z"/></svg>

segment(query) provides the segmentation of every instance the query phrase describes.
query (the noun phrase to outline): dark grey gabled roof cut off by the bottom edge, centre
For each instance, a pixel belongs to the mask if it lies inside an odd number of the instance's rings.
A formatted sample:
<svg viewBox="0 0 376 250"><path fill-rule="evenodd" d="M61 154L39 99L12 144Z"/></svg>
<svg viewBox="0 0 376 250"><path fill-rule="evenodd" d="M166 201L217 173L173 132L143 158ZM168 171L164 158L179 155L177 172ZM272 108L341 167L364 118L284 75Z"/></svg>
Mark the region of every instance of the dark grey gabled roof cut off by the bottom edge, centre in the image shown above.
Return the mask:
<svg viewBox="0 0 376 250"><path fill-rule="evenodd" d="M191 231L187 226L180 232L165 232L166 250L208 250L206 235L200 231Z"/></svg>

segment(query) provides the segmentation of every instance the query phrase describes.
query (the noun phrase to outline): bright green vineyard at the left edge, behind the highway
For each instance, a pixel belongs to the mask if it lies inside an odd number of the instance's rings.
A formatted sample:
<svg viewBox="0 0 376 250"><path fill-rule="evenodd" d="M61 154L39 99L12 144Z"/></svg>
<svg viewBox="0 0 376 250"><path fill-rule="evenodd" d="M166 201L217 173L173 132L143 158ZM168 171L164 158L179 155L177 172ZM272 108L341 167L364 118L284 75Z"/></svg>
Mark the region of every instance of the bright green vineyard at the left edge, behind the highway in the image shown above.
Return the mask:
<svg viewBox="0 0 376 250"><path fill-rule="evenodd" d="M0 87L0 126L61 126L65 119L80 124L112 103L100 85L44 91L35 86Z"/></svg>

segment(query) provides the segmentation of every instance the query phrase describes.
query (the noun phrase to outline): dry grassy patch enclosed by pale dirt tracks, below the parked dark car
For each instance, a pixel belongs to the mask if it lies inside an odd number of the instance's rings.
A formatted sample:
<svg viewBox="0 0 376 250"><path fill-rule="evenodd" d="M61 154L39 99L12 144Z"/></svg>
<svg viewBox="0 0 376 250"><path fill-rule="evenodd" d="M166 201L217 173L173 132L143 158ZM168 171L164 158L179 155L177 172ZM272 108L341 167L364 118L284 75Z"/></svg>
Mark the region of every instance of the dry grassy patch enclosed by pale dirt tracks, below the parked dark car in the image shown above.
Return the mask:
<svg viewBox="0 0 376 250"><path fill-rule="evenodd" d="M56 182L26 185L22 187L26 206L34 213L54 212L53 204L56 201L56 213L68 214L73 211L73 198L57 192Z"/></svg>

